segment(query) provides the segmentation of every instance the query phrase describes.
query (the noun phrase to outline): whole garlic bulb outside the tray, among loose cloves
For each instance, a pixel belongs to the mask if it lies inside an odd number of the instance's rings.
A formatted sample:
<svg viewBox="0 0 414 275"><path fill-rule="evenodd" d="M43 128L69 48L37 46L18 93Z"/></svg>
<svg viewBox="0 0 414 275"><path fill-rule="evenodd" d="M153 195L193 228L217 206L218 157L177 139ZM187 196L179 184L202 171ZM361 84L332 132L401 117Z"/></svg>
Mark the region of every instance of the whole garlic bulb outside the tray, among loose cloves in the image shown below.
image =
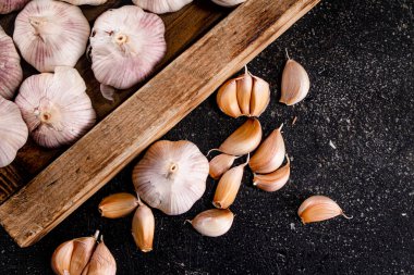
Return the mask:
<svg viewBox="0 0 414 275"><path fill-rule="evenodd" d="M133 171L141 199L168 215L188 211L203 196L208 160L186 140L154 143Z"/></svg>

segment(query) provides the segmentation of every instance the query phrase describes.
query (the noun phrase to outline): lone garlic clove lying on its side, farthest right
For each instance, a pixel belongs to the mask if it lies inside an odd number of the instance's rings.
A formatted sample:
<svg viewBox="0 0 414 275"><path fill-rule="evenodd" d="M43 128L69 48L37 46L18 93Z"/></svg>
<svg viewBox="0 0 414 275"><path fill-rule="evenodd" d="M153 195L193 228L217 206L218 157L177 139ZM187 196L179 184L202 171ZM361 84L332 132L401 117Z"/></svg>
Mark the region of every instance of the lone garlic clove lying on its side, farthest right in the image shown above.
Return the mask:
<svg viewBox="0 0 414 275"><path fill-rule="evenodd" d="M312 196L307 198L299 208L297 215L304 224L321 222L338 215L349 218L337 202L325 196Z"/></svg>

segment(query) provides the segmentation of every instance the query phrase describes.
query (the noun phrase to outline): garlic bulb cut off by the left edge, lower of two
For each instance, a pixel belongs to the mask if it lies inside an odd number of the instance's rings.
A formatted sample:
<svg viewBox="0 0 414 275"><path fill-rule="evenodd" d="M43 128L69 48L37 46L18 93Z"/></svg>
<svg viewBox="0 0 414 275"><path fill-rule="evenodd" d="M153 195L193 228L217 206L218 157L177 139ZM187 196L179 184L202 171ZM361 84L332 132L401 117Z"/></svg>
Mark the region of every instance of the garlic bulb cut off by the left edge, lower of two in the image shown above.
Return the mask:
<svg viewBox="0 0 414 275"><path fill-rule="evenodd" d="M27 136L27 126L17 105L0 97L0 167L14 160Z"/></svg>

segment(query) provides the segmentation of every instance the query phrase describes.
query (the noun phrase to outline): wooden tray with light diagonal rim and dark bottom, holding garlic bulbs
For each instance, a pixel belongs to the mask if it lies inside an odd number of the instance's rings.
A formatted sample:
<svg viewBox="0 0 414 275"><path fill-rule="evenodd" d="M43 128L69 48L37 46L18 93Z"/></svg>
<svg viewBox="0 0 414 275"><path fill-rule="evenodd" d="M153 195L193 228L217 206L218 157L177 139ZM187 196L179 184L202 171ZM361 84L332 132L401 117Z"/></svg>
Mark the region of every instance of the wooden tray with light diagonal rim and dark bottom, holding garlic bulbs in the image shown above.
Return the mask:
<svg viewBox="0 0 414 275"><path fill-rule="evenodd" d="M38 241L318 2L247 0L229 10L204 0L161 15L166 58L147 83L118 93L113 103L100 96L84 57L76 68L99 123L70 148L46 150L29 140L0 170L0 224L21 247ZM121 3L82 9L93 24ZM15 16L0 20L9 35ZM36 73L23 68L25 77Z"/></svg>

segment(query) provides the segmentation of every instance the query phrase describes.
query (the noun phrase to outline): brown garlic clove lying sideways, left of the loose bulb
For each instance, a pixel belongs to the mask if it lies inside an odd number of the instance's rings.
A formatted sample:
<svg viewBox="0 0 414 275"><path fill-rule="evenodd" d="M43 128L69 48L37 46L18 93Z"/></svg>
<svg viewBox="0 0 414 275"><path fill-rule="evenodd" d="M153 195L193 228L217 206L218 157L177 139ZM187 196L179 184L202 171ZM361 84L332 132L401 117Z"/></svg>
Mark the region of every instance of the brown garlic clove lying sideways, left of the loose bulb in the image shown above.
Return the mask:
<svg viewBox="0 0 414 275"><path fill-rule="evenodd" d="M99 212L105 217L118 218L130 214L138 207L138 199L127 192L108 196L99 203Z"/></svg>

